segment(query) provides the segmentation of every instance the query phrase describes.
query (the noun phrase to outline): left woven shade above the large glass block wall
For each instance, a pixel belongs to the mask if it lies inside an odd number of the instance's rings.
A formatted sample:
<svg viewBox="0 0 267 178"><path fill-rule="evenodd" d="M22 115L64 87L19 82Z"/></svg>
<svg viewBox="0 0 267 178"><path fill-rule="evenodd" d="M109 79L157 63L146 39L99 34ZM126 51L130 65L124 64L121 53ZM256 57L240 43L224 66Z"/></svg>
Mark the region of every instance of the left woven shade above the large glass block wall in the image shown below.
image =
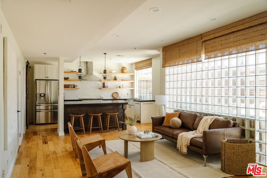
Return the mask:
<svg viewBox="0 0 267 178"><path fill-rule="evenodd" d="M162 48L162 67L201 61L201 35Z"/></svg>

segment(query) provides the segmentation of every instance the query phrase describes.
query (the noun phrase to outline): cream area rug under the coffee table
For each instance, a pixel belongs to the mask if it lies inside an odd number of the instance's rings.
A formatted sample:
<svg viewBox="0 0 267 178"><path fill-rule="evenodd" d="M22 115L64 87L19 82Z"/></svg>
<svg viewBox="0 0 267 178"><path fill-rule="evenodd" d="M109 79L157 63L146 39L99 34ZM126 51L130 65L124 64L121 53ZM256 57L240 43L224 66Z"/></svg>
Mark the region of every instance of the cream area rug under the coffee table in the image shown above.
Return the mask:
<svg viewBox="0 0 267 178"><path fill-rule="evenodd" d="M106 141L107 153L117 151L124 155L124 141ZM176 149L176 144L161 139L155 141L155 158L152 161L140 162L140 143L128 142L128 160L131 161L133 177L186 177L186 178L221 178L231 176L221 171L221 159L211 155L207 157L207 166L204 167L204 157L194 151L188 150L182 154ZM92 159L103 156L102 148L89 151ZM124 171L116 178L127 177Z"/></svg>

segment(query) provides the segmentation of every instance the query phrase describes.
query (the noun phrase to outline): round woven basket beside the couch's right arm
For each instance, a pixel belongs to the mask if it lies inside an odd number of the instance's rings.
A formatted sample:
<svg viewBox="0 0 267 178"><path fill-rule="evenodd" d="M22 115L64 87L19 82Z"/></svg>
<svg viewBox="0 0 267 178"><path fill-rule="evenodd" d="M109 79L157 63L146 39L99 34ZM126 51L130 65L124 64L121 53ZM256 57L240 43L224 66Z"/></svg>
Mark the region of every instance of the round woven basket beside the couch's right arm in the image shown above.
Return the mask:
<svg viewBox="0 0 267 178"><path fill-rule="evenodd" d="M221 139L221 169L231 175L248 175L248 164L256 163L256 142Z"/></svg>

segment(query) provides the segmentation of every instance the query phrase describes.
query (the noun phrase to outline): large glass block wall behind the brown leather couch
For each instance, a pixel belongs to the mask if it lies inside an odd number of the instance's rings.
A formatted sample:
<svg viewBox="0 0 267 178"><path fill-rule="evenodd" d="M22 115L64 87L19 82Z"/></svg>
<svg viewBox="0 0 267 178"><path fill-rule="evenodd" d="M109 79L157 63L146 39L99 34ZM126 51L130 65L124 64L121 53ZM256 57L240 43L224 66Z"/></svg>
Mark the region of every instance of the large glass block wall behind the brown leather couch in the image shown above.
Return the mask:
<svg viewBox="0 0 267 178"><path fill-rule="evenodd" d="M167 112L176 109L240 123L257 142L257 163L267 165L266 50L166 68Z"/></svg>

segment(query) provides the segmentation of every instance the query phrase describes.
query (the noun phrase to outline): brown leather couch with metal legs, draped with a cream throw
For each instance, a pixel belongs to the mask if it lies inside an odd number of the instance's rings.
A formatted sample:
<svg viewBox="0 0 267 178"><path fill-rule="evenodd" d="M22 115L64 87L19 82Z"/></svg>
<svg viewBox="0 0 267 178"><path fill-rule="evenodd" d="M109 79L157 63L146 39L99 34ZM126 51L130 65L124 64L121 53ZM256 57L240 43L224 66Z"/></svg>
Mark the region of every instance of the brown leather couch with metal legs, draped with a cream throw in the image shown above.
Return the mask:
<svg viewBox="0 0 267 178"><path fill-rule="evenodd" d="M175 110L174 112L178 112ZM177 143L178 135L182 132L197 130L201 119L204 116L199 114L180 111L179 119L182 121L180 128L162 126L165 116L154 116L152 119L152 132L159 133L162 138ZM203 137L194 137L190 140L187 147L204 156L205 166L208 155L221 153L221 138L241 139L241 128L238 122L231 120L215 119L209 130L203 131Z"/></svg>

